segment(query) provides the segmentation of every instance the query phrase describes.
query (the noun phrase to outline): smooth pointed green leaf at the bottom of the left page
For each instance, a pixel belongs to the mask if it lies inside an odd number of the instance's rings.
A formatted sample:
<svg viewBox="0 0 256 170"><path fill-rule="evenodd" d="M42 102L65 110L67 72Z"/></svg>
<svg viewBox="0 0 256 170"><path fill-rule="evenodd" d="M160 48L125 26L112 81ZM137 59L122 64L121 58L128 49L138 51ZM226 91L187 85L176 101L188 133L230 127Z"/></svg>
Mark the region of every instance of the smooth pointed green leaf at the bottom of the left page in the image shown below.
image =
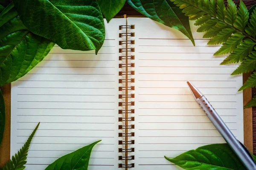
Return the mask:
<svg viewBox="0 0 256 170"><path fill-rule="evenodd" d="M45 170L87 170L90 154L95 144L89 144L54 161Z"/></svg>

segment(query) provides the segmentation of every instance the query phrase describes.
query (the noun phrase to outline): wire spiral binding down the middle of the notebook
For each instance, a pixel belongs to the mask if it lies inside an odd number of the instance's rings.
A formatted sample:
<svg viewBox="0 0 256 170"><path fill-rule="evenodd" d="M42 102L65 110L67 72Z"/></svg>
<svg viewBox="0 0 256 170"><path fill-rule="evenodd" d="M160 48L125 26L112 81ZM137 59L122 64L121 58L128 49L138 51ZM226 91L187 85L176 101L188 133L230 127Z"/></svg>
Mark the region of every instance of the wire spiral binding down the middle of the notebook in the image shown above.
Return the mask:
<svg viewBox="0 0 256 170"><path fill-rule="evenodd" d="M119 168L134 167L134 26L119 26Z"/></svg>

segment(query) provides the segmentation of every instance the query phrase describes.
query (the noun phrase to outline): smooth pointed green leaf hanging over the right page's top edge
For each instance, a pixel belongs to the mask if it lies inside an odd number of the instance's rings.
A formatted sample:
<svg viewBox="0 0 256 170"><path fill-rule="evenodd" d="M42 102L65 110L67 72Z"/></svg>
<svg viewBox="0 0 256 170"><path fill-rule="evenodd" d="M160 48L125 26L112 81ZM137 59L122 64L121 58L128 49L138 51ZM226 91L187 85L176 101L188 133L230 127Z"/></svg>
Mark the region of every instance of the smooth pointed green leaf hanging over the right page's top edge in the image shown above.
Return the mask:
<svg viewBox="0 0 256 170"><path fill-rule="evenodd" d="M189 26L189 18L185 17L182 11L171 1L128 0L127 3L146 17L179 30L192 41L193 45L195 45Z"/></svg>

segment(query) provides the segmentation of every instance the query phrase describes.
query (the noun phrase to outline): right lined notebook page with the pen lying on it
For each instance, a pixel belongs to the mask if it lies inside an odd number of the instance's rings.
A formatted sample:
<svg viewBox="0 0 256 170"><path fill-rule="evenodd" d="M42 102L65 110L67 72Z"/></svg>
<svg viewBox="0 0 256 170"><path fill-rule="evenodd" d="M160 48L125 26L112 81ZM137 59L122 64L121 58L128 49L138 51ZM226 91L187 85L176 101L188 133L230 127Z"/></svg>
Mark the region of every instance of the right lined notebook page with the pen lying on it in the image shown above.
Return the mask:
<svg viewBox="0 0 256 170"><path fill-rule="evenodd" d="M196 32L192 42L175 29L148 18L128 18L135 25L135 169L178 170L163 156L224 139L195 102L186 81L207 96L234 135L243 141L241 76L236 65L220 65L220 47Z"/></svg>

